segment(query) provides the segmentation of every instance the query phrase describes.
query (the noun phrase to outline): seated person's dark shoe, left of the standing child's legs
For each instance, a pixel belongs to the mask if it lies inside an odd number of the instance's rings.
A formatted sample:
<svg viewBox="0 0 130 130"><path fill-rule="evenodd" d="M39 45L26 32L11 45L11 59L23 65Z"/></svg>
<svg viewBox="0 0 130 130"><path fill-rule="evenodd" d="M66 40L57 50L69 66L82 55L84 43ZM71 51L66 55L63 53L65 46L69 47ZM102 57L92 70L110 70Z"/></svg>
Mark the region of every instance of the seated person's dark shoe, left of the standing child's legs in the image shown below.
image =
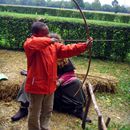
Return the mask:
<svg viewBox="0 0 130 130"><path fill-rule="evenodd" d="M28 108L20 108L19 111L11 117L12 121L18 121L28 115Z"/></svg>

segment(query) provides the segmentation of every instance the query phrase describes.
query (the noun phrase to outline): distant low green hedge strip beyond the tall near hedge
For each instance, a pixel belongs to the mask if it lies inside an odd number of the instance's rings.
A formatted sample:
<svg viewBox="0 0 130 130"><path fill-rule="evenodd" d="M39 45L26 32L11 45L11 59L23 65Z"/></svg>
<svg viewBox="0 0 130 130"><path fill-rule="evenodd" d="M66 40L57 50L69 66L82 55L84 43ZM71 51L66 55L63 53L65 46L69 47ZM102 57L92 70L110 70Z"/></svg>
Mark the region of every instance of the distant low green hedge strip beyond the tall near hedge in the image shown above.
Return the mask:
<svg viewBox="0 0 130 130"><path fill-rule="evenodd" d="M78 10L63 9L63 8L56 9L56 8L37 7L37 6L0 5L0 11L81 18L81 15ZM115 13L96 12L96 11L83 11L83 12L87 19L130 23L130 15L126 14L115 14Z"/></svg>

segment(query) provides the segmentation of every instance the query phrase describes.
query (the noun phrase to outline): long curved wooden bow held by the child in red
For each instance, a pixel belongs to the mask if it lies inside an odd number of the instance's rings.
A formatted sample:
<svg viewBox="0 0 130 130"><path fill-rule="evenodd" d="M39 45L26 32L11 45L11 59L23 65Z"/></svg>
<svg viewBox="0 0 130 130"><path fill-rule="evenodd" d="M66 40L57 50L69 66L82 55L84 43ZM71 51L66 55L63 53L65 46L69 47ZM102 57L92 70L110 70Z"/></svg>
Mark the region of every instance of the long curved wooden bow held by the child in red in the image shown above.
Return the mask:
<svg viewBox="0 0 130 130"><path fill-rule="evenodd" d="M87 24L85 15L84 15L84 13L82 12L82 10L81 10L81 8L80 8L78 2L77 2L76 0L72 0L72 1L75 3L75 5L77 6L77 8L78 8L79 11L80 11L80 14L81 14L81 16L82 16L82 18L83 18L83 20L84 20L84 24L85 24L86 38L89 39L89 38L90 38L90 35L89 35L89 27L88 27L88 24ZM84 77L84 79L83 79L83 82L82 82L81 87L76 91L76 93L74 94L74 96L76 96L77 93L80 91L80 89L83 87L83 85L84 85L84 83L85 83L85 80L87 79L87 76L88 76L88 73L89 73L89 69L90 69L90 65L91 65L91 55L92 55L92 50L91 50L91 48L88 49L88 53L89 53L89 61L88 61L87 72L86 72L86 74L85 74L85 77Z"/></svg>

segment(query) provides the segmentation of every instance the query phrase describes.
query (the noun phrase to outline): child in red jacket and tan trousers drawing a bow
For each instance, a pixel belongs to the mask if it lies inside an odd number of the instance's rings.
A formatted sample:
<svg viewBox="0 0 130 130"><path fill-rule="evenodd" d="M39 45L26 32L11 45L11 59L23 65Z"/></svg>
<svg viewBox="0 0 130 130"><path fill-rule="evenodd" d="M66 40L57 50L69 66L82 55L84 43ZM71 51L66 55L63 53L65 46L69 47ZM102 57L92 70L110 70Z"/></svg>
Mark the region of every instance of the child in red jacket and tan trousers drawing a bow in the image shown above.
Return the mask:
<svg viewBox="0 0 130 130"><path fill-rule="evenodd" d="M32 24L32 36L24 43L27 57L25 91L29 94L28 130L49 130L57 81L57 59L68 58L87 50L86 43L64 45L49 38L48 26L43 22Z"/></svg>

